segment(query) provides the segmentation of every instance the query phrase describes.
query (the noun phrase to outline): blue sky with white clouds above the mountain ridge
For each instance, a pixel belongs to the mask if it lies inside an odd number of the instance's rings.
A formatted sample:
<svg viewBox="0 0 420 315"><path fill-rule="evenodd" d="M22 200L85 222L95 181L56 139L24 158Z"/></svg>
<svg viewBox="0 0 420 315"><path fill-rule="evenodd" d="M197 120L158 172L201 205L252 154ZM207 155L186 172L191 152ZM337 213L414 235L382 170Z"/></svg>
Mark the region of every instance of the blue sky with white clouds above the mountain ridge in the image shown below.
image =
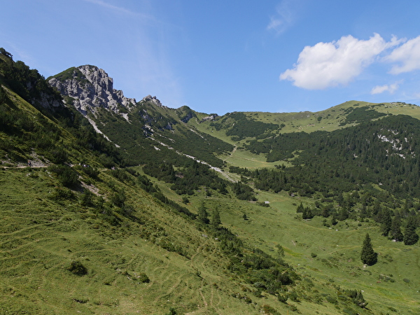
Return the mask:
<svg viewBox="0 0 420 315"><path fill-rule="evenodd" d="M13 0L0 47L46 77L93 64L195 111L420 105L417 0Z"/></svg>

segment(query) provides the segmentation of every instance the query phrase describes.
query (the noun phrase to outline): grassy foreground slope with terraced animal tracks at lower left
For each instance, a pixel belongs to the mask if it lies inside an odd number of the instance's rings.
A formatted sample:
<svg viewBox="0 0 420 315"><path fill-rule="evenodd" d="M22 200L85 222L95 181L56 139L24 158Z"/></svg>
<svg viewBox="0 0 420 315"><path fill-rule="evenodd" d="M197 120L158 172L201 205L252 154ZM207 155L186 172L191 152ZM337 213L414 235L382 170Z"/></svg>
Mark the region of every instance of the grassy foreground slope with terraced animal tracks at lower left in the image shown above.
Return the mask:
<svg viewBox="0 0 420 315"><path fill-rule="evenodd" d="M106 196L110 180L102 174L93 185ZM147 222L121 218L115 227L77 199L51 200L59 184L46 169L3 169L0 183L2 314L163 314L169 307L190 314L253 314L258 309L231 296L237 284L218 267L226 261L215 241L141 190L125 187L135 215ZM153 234L156 226L183 246L186 257L153 244L165 239ZM144 239L148 229L152 237ZM88 274L71 274L66 269L71 260L80 260ZM150 283L137 280L141 272Z"/></svg>

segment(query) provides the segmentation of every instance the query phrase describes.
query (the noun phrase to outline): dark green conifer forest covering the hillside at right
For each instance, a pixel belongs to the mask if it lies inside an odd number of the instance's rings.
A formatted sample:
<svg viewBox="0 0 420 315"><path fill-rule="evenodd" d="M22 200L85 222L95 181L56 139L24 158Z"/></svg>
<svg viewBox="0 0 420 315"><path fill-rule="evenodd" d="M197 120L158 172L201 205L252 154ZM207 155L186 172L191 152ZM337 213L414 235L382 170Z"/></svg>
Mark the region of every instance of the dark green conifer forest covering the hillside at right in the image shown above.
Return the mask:
<svg viewBox="0 0 420 315"><path fill-rule="evenodd" d="M267 161L289 161L291 167L230 167L230 172L252 180L256 189L314 197L316 207L297 207L304 219L330 218L324 221L328 226L371 219L385 237L415 244L420 226L419 139L419 120L404 115L334 132L279 134L251 141L248 148L267 153Z"/></svg>

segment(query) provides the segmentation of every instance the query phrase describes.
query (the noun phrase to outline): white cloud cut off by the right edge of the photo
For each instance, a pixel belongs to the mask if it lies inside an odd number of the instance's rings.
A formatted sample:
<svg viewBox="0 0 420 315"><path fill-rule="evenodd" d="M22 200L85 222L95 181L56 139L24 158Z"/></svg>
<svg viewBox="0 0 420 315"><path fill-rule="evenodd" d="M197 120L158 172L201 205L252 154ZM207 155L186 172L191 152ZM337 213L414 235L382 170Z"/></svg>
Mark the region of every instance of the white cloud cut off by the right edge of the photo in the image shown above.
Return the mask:
<svg viewBox="0 0 420 315"><path fill-rule="evenodd" d="M420 36L410 39L406 43L395 48L390 55L384 58L389 62L398 62L390 71L392 74L399 74L420 69Z"/></svg>

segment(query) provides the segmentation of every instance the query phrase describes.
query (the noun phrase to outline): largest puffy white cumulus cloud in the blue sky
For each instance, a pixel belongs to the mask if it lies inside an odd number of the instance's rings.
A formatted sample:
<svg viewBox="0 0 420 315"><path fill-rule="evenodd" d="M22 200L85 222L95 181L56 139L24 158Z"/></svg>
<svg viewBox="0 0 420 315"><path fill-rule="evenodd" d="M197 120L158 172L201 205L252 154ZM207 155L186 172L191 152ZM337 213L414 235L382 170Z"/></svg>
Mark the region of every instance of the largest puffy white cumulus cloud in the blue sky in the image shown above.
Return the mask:
<svg viewBox="0 0 420 315"><path fill-rule="evenodd" d="M281 73L280 80L293 81L293 85L308 90L346 85L381 52L398 43L395 37L386 42L379 34L374 34L367 41L349 35L338 41L306 46L297 64Z"/></svg>

